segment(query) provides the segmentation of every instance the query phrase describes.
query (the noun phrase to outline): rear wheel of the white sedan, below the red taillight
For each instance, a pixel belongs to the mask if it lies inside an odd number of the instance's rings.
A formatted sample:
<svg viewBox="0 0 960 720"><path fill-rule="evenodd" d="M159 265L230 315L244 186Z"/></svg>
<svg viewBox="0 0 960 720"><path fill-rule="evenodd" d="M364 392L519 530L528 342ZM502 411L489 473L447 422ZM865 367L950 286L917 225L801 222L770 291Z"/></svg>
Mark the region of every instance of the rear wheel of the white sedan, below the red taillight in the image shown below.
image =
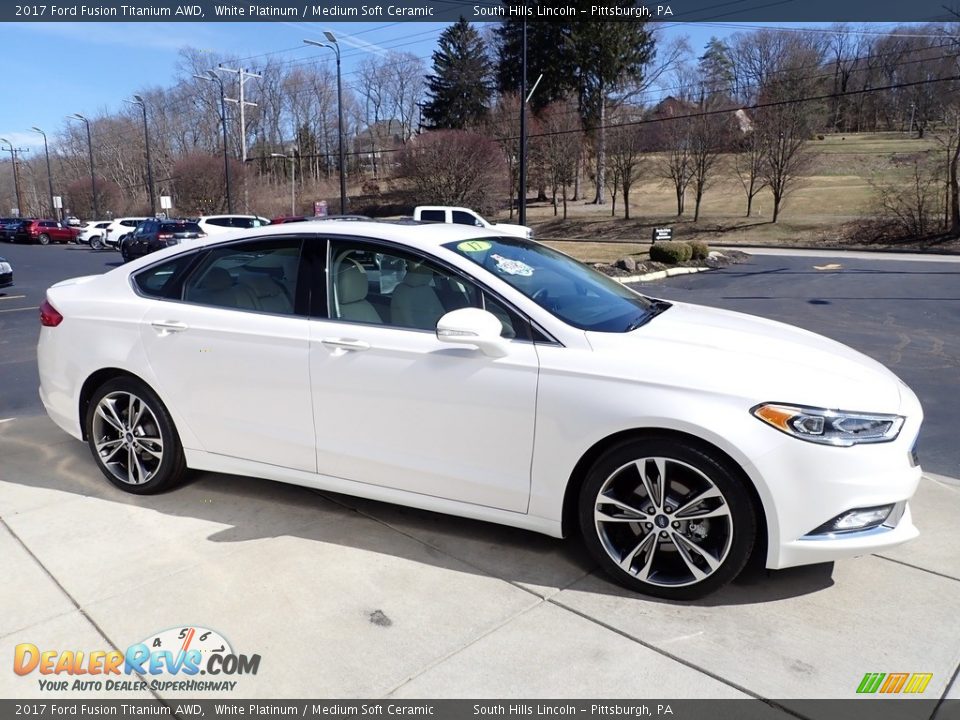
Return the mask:
<svg viewBox="0 0 960 720"><path fill-rule="evenodd" d="M97 388L84 427L97 467L121 490L152 495L176 485L186 473L170 413L138 380L115 378Z"/></svg>

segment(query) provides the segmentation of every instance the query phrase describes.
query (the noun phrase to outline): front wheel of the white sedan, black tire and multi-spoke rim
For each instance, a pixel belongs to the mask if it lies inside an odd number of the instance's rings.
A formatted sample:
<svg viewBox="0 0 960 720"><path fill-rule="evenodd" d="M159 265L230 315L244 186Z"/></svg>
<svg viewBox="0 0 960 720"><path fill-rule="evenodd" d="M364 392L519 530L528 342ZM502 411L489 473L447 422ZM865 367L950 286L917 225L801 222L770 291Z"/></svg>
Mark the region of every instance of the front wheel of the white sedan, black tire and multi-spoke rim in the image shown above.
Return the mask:
<svg viewBox="0 0 960 720"><path fill-rule="evenodd" d="M728 463L671 437L607 450L578 508L600 567L624 587L669 600L695 600L733 580L756 541L757 511Z"/></svg>

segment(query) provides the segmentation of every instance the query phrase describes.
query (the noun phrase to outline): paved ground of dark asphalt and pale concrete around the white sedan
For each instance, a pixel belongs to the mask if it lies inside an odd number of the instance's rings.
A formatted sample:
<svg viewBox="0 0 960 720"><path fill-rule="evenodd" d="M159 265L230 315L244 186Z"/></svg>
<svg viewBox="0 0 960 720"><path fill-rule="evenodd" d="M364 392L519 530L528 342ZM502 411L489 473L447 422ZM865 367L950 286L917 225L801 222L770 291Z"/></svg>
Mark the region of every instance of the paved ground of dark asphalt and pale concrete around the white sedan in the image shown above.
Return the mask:
<svg viewBox="0 0 960 720"><path fill-rule="evenodd" d="M960 475L958 263L757 255L644 286L885 362L924 402L922 460L939 474L913 503L913 543L666 603L607 582L576 541L211 473L155 497L115 490L46 419L32 363L43 289L119 258L0 255L17 281L0 296L0 558L12 580L0 586L0 668L18 643L122 649L189 625L261 655L236 697L753 697L787 717L800 712L790 699L855 697L867 672L929 672L925 698L960 700L960 487L941 477ZM0 697L55 696L77 697L0 672Z"/></svg>

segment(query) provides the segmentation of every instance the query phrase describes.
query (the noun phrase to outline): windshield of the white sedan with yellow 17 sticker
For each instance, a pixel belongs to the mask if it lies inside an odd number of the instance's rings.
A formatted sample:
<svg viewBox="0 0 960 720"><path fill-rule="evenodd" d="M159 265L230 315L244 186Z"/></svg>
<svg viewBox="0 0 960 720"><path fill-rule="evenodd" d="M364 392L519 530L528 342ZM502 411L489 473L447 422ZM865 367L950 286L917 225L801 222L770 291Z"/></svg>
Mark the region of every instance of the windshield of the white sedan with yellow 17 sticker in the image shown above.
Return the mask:
<svg viewBox="0 0 960 720"><path fill-rule="evenodd" d="M657 311L653 301L545 245L497 237L444 245L581 330L628 332Z"/></svg>

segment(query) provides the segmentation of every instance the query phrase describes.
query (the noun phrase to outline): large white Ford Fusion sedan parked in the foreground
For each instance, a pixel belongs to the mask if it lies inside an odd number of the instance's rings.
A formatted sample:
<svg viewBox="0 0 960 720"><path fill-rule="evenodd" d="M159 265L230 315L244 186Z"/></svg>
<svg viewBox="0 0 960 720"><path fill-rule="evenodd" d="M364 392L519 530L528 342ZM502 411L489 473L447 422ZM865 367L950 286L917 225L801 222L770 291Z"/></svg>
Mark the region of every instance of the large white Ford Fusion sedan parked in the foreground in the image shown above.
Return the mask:
<svg viewBox="0 0 960 720"><path fill-rule="evenodd" d="M917 535L922 411L794 327L638 295L530 240L302 223L54 285L40 394L117 487L253 475L556 537L716 590Z"/></svg>

